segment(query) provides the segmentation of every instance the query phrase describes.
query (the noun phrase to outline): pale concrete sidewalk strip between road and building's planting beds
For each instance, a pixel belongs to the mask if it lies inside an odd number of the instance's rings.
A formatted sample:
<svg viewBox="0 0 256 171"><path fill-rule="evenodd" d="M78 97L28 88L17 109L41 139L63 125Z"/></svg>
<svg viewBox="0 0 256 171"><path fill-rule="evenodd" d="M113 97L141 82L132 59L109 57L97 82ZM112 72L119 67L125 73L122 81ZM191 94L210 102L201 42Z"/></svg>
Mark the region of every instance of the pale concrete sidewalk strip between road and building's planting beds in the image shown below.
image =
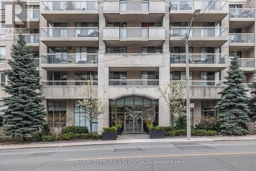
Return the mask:
<svg viewBox="0 0 256 171"><path fill-rule="evenodd" d="M65 141L65 142L42 142L42 143L31 143L23 145L0 145L0 150L7 149L26 149L26 148L49 148L49 147L60 147L60 146L82 146L82 145L108 145L108 144L125 144L125 143L151 143L151 142L188 142L188 141L237 141L237 140L256 140L256 135L250 136L218 136L218 137L196 137L187 140L186 138L165 138L165 139L121 139L113 141Z"/></svg>

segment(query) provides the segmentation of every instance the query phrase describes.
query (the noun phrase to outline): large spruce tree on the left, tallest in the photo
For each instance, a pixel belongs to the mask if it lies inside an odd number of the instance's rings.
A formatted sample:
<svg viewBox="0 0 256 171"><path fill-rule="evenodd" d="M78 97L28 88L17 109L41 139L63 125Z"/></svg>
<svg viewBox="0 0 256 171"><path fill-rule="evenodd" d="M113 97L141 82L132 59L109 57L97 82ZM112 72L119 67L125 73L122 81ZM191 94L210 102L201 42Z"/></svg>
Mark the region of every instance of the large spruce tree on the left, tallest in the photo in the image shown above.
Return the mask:
<svg viewBox="0 0 256 171"><path fill-rule="evenodd" d="M27 46L24 35L18 35L12 44L10 69L5 70L8 84L5 92L10 96L4 98L4 132L15 138L26 137L39 130L44 123L44 106L40 104L44 97L36 90L40 89L40 77L33 63L33 53Z"/></svg>

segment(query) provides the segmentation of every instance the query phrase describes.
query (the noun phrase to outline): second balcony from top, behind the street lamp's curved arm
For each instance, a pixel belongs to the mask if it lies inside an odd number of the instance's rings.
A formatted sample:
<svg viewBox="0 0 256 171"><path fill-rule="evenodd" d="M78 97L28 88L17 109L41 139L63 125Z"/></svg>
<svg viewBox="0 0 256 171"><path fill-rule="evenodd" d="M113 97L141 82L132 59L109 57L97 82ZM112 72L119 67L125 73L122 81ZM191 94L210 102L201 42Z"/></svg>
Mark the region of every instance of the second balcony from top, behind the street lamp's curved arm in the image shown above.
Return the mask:
<svg viewBox="0 0 256 171"><path fill-rule="evenodd" d="M170 41L182 40L189 27L171 27ZM201 44L222 45L228 40L227 27L191 27L189 40Z"/></svg>

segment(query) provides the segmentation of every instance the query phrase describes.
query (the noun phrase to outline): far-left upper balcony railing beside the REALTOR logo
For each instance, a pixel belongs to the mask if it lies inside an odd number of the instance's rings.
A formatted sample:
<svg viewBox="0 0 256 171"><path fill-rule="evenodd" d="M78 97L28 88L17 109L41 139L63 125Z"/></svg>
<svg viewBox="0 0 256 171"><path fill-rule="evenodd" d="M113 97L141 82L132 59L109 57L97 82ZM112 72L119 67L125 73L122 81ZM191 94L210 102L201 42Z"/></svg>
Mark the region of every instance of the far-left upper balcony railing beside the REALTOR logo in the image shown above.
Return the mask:
<svg viewBox="0 0 256 171"><path fill-rule="evenodd" d="M22 23L24 21L39 22L39 9L15 9L15 24Z"/></svg>

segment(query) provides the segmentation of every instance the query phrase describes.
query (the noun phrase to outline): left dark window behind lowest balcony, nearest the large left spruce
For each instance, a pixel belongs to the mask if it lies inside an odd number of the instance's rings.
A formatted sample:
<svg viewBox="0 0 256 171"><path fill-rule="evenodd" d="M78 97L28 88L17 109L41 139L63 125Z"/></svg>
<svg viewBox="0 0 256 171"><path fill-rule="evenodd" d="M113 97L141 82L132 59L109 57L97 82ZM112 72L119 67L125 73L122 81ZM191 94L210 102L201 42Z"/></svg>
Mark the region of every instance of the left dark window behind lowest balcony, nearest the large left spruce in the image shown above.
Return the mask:
<svg viewBox="0 0 256 171"><path fill-rule="evenodd" d="M65 71L48 71L48 81L53 81L49 82L49 85L67 85L67 72Z"/></svg>

